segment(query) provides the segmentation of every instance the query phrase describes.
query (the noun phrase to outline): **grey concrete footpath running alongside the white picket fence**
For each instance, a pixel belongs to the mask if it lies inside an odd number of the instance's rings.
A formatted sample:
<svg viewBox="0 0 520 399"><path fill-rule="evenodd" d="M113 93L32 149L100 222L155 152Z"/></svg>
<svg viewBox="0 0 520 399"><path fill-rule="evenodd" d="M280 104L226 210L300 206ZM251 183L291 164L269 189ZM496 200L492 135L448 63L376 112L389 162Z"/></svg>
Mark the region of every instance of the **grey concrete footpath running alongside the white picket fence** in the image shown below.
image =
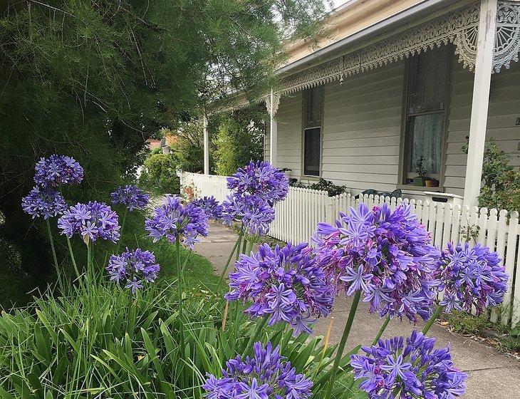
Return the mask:
<svg viewBox="0 0 520 399"><path fill-rule="evenodd" d="M207 257L214 265L215 272L222 273L233 245L236 234L227 227L212 224L209 237L202 237L201 242L195 245L198 254ZM229 270L233 267L229 266ZM338 297L331 316L334 317L331 343L338 343L343 333L343 328L350 309L350 299ZM318 321L315 332L323 335L326 332L329 319ZM360 305L355 314L353 330L347 343L352 348L359 343L367 345L371 341L382 324L382 320L376 314L368 313L368 306ZM408 336L414 326L408 321L391 321L383 338L392 336ZM422 328L422 323L417 323L417 329ZM452 356L455 365L469 375L467 381L468 399L513 399L520 398L520 362L508 358L489 346L473 341L472 339L457 336L450 333L447 328L439 324L432 326L429 336L437 338L437 346L452 348Z"/></svg>

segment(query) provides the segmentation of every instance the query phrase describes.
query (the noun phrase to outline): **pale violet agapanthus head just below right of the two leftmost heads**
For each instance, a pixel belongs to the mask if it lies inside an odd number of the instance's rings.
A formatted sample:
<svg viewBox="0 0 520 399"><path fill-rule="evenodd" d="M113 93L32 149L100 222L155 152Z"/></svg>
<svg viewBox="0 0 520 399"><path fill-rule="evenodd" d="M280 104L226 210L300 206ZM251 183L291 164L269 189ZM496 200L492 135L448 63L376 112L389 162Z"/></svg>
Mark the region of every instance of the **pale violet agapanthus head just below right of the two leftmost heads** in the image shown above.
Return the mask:
<svg viewBox="0 0 520 399"><path fill-rule="evenodd" d="M87 244L97 239L117 242L120 236L118 214L104 202L73 205L58 219L58 227L69 238L80 234Z"/></svg>

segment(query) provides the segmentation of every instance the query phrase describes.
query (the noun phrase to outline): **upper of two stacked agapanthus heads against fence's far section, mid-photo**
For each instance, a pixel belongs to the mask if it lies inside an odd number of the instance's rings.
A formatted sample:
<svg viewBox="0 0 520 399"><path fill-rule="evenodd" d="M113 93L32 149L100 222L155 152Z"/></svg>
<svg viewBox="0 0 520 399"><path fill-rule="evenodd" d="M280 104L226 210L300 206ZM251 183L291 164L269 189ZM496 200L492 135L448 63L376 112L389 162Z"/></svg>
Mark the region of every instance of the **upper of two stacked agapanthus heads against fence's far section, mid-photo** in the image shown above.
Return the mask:
<svg viewBox="0 0 520 399"><path fill-rule="evenodd" d="M256 195L271 206L283 201L288 192L288 179L284 172L271 166L269 162L249 162L239 167L227 178L227 187L239 194Z"/></svg>

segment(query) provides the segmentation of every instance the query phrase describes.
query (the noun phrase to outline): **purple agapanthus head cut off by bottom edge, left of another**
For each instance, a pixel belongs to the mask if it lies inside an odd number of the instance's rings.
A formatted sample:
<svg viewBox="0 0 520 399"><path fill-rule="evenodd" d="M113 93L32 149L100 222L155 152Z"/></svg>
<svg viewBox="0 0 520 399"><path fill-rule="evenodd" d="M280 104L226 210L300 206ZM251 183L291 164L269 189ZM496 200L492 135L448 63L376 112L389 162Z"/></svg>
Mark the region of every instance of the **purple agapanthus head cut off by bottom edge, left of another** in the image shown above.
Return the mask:
<svg viewBox="0 0 520 399"><path fill-rule="evenodd" d="M313 383L297 374L291 362L280 355L280 347L270 342L254 344L254 356L231 359L222 369L222 378L212 374L202 388L209 399L307 399Z"/></svg>

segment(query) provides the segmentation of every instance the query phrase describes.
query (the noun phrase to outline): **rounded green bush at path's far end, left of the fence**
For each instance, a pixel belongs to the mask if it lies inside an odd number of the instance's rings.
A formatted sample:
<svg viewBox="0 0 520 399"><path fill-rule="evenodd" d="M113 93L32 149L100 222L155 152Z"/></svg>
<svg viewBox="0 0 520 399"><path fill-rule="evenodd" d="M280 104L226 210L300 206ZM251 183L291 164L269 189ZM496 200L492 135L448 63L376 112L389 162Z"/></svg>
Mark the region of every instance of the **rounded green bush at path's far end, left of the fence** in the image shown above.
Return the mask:
<svg viewBox="0 0 520 399"><path fill-rule="evenodd" d="M180 192L177 158L170 154L154 154L147 160L139 178L139 185L155 194Z"/></svg>

